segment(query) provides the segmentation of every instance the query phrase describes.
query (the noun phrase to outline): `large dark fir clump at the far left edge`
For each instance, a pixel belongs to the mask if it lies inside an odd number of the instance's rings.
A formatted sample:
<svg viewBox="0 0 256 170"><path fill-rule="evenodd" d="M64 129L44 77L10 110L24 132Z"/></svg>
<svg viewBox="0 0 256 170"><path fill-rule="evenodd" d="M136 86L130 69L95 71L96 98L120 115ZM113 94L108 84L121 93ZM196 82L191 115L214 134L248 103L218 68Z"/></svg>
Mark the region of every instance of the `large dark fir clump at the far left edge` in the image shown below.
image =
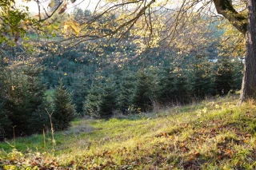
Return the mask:
<svg viewBox="0 0 256 170"><path fill-rule="evenodd" d="M42 132L43 124L47 124L46 113L42 111L46 107L44 95L46 88L39 78L41 70L40 67L27 65L2 72L0 79L4 88L1 114L6 117L5 119L10 120L10 125L15 127L17 136ZM6 77L6 74L11 78ZM12 129L5 129L5 131L10 132ZM6 135L10 136L10 134Z"/></svg>

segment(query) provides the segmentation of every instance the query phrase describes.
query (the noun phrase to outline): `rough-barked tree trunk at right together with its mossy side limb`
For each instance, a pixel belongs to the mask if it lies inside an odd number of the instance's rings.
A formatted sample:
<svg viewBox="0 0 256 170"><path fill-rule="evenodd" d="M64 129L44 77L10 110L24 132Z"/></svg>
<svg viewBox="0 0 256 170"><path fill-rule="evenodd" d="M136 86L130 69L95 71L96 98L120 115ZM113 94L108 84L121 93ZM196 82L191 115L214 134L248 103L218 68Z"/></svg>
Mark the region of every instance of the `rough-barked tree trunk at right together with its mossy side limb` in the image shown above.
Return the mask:
<svg viewBox="0 0 256 170"><path fill-rule="evenodd" d="M230 0L214 0L214 5L218 14L222 14L246 36L245 72L238 101L238 105L241 105L243 101L256 97L256 2L247 0L248 18L234 10Z"/></svg>

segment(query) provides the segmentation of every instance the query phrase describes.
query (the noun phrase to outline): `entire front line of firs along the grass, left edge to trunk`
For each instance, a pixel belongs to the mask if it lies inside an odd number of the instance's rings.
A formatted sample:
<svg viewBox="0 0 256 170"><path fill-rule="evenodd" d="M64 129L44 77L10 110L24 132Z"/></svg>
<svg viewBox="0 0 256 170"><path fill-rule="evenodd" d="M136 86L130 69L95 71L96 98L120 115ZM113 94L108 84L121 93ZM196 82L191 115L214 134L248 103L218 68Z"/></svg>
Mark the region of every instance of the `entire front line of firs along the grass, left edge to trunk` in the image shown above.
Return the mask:
<svg viewBox="0 0 256 170"><path fill-rule="evenodd" d="M2 61L3 62L3 61ZM241 88L241 60L194 56L162 65L128 65L74 77L60 77L42 66L10 69L2 63L0 77L1 137L30 135L50 129L65 130L75 116L108 118L114 113L149 112L155 107L185 105L205 97L234 93ZM78 73L79 74L79 73ZM89 76L90 75L90 76ZM57 77L55 77L57 79ZM50 91L53 91L49 97Z"/></svg>

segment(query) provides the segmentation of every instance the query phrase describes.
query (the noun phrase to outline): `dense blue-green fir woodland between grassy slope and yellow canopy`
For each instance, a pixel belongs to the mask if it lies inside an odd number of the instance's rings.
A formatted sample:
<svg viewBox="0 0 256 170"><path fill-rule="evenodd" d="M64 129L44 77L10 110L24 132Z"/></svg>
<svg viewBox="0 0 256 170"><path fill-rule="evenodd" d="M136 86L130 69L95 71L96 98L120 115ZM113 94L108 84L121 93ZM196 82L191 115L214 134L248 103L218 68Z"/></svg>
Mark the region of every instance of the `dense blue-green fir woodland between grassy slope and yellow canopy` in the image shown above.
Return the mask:
<svg viewBox="0 0 256 170"><path fill-rule="evenodd" d="M90 11L75 9L72 14L79 22ZM27 34L30 43L42 43L36 53L24 55L22 45L2 45L2 139L14 132L24 136L49 131L50 119L55 130L64 130L75 117L107 119L114 114L149 113L234 93L242 85L242 56L230 56L232 53L219 48L225 31L216 24L210 26L200 36L208 41L156 47L137 57L136 43L130 39L114 45L102 38L104 43L83 42L63 50L62 45L50 48L47 38L37 38L32 31ZM183 31L187 30L190 26ZM186 42L186 36L177 40ZM198 43L196 49L194 43ZM116 61L110 55L121 57ZM135 57L126 60L127 55Z"/></svg>

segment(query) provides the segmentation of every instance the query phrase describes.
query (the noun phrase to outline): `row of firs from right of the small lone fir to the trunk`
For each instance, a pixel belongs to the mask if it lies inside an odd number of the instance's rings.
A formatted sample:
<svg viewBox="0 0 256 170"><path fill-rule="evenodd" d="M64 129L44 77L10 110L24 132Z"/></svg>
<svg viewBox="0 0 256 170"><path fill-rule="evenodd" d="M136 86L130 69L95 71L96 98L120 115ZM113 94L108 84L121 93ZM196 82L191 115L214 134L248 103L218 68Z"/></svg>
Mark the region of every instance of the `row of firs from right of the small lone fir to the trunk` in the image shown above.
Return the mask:
<svg viewBox="0 0 256 170"><path fill-rule="evenodd" d="M102 73L84 89L80 111L91 117L114 113L149 112L154 107L184 105L206 97L234 93L241 88L242 61L216 62L196 56L190 65L123 70L118 75ZM86 92L85 92L86 91Z"/></svg>

